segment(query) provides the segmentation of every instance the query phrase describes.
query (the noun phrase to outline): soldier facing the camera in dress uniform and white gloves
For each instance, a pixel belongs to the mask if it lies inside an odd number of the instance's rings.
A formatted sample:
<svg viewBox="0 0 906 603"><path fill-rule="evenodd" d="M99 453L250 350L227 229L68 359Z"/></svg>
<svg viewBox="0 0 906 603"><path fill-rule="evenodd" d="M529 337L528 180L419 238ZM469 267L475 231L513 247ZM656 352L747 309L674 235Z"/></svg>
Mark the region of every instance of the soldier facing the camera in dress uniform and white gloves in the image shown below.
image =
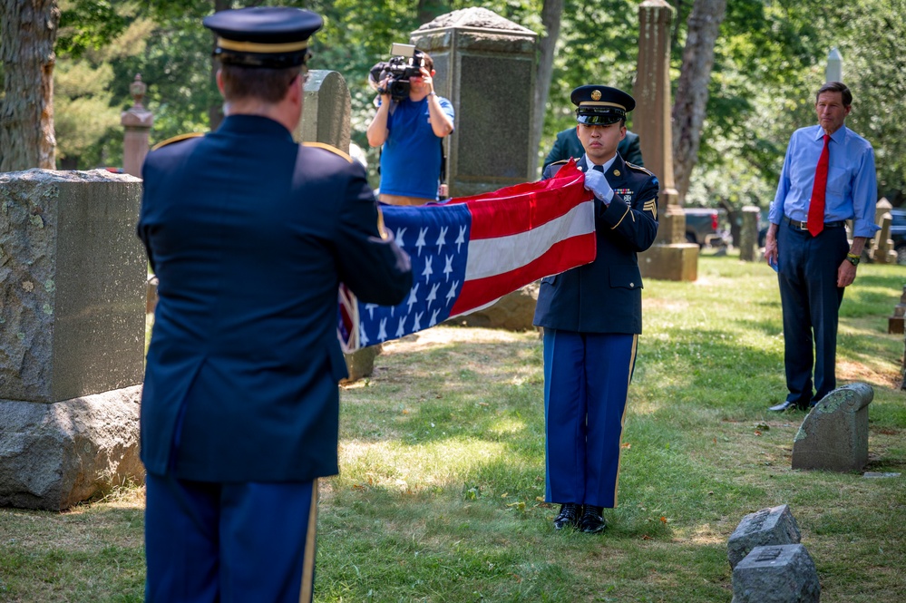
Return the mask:
<svg viewBox="0 0 906 603"><path fill-rule="evenodd" d="M578 167L595 195L594 262L541 280L534 324L544 327L545 500L557 530L605 529L617 506L620 436L642 332L636 254L658 233L658 179L617 152L636 102L600 85L572 91L585 154ZM566 161L550 164L550 178Z"/></svg>

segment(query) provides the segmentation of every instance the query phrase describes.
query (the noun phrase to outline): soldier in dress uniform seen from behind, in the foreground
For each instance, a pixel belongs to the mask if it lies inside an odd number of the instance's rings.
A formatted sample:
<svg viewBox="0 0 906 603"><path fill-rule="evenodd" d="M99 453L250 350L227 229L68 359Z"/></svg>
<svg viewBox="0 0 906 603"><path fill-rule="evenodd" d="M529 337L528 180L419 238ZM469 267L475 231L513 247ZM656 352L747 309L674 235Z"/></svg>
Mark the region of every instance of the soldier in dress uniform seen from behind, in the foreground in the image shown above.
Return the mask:
<svg viewBox="0 0 906 603"><path fill-rule="evenodd" d="M337 472L337 288L395 305L409 258L365 169L292 139L321 17L227 10L226 118L145 160L138 234L160 279L141 400L149 601L310 601L317 479Z"/></svg>

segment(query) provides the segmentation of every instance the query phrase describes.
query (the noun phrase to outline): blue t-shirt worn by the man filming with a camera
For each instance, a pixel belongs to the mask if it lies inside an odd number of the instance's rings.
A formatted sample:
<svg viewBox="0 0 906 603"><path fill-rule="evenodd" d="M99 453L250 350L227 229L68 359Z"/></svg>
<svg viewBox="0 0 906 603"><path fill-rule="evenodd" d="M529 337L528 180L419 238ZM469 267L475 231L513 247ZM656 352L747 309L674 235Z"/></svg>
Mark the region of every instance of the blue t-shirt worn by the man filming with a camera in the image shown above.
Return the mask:
<svg viewBox="0 0 906 603"><path fill-rule="evenodd" d="M453 105L442 96L441 110L453 122ZM428 122L428 97L404 99L387 116L387 140L381 151L381 192L437 199L441 176L441 141Z"/></svg>

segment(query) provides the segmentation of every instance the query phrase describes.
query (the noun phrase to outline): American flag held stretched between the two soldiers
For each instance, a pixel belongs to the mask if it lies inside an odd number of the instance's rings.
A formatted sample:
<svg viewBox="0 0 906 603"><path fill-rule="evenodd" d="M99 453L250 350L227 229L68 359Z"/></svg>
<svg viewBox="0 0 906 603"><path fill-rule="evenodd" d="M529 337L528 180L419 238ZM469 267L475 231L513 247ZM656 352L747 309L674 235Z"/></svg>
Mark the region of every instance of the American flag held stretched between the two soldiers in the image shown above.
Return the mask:
<svg viewBox="0 0 906 603"><path fill-rule="evenodd" d="M554 178L417 207L382 206L412 260L397 306L361 304L340 287L337 335L347 354L490 306L541 277L595 258L594 205L570 161Z"/></svg>

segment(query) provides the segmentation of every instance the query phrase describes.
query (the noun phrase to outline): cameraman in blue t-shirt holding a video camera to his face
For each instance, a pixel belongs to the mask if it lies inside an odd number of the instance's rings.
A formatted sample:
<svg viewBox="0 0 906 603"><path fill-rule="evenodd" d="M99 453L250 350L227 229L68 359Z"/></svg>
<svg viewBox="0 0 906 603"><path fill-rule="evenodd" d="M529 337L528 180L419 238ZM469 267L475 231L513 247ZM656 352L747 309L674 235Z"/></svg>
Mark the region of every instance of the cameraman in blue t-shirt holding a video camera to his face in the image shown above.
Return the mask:
<svg viewBox="0 0 906 603"><path fill-rule="evenodd" d="M379 199L390 205L423 205L437 200L442 139L453 132L453 105L434 92L434 61L415 51L419 73L409 78L408 98L392 99L390 77L379 85L380 105L368 125L368 144L381 152ZM419 64L419 63L415 63Z"/></svg>

